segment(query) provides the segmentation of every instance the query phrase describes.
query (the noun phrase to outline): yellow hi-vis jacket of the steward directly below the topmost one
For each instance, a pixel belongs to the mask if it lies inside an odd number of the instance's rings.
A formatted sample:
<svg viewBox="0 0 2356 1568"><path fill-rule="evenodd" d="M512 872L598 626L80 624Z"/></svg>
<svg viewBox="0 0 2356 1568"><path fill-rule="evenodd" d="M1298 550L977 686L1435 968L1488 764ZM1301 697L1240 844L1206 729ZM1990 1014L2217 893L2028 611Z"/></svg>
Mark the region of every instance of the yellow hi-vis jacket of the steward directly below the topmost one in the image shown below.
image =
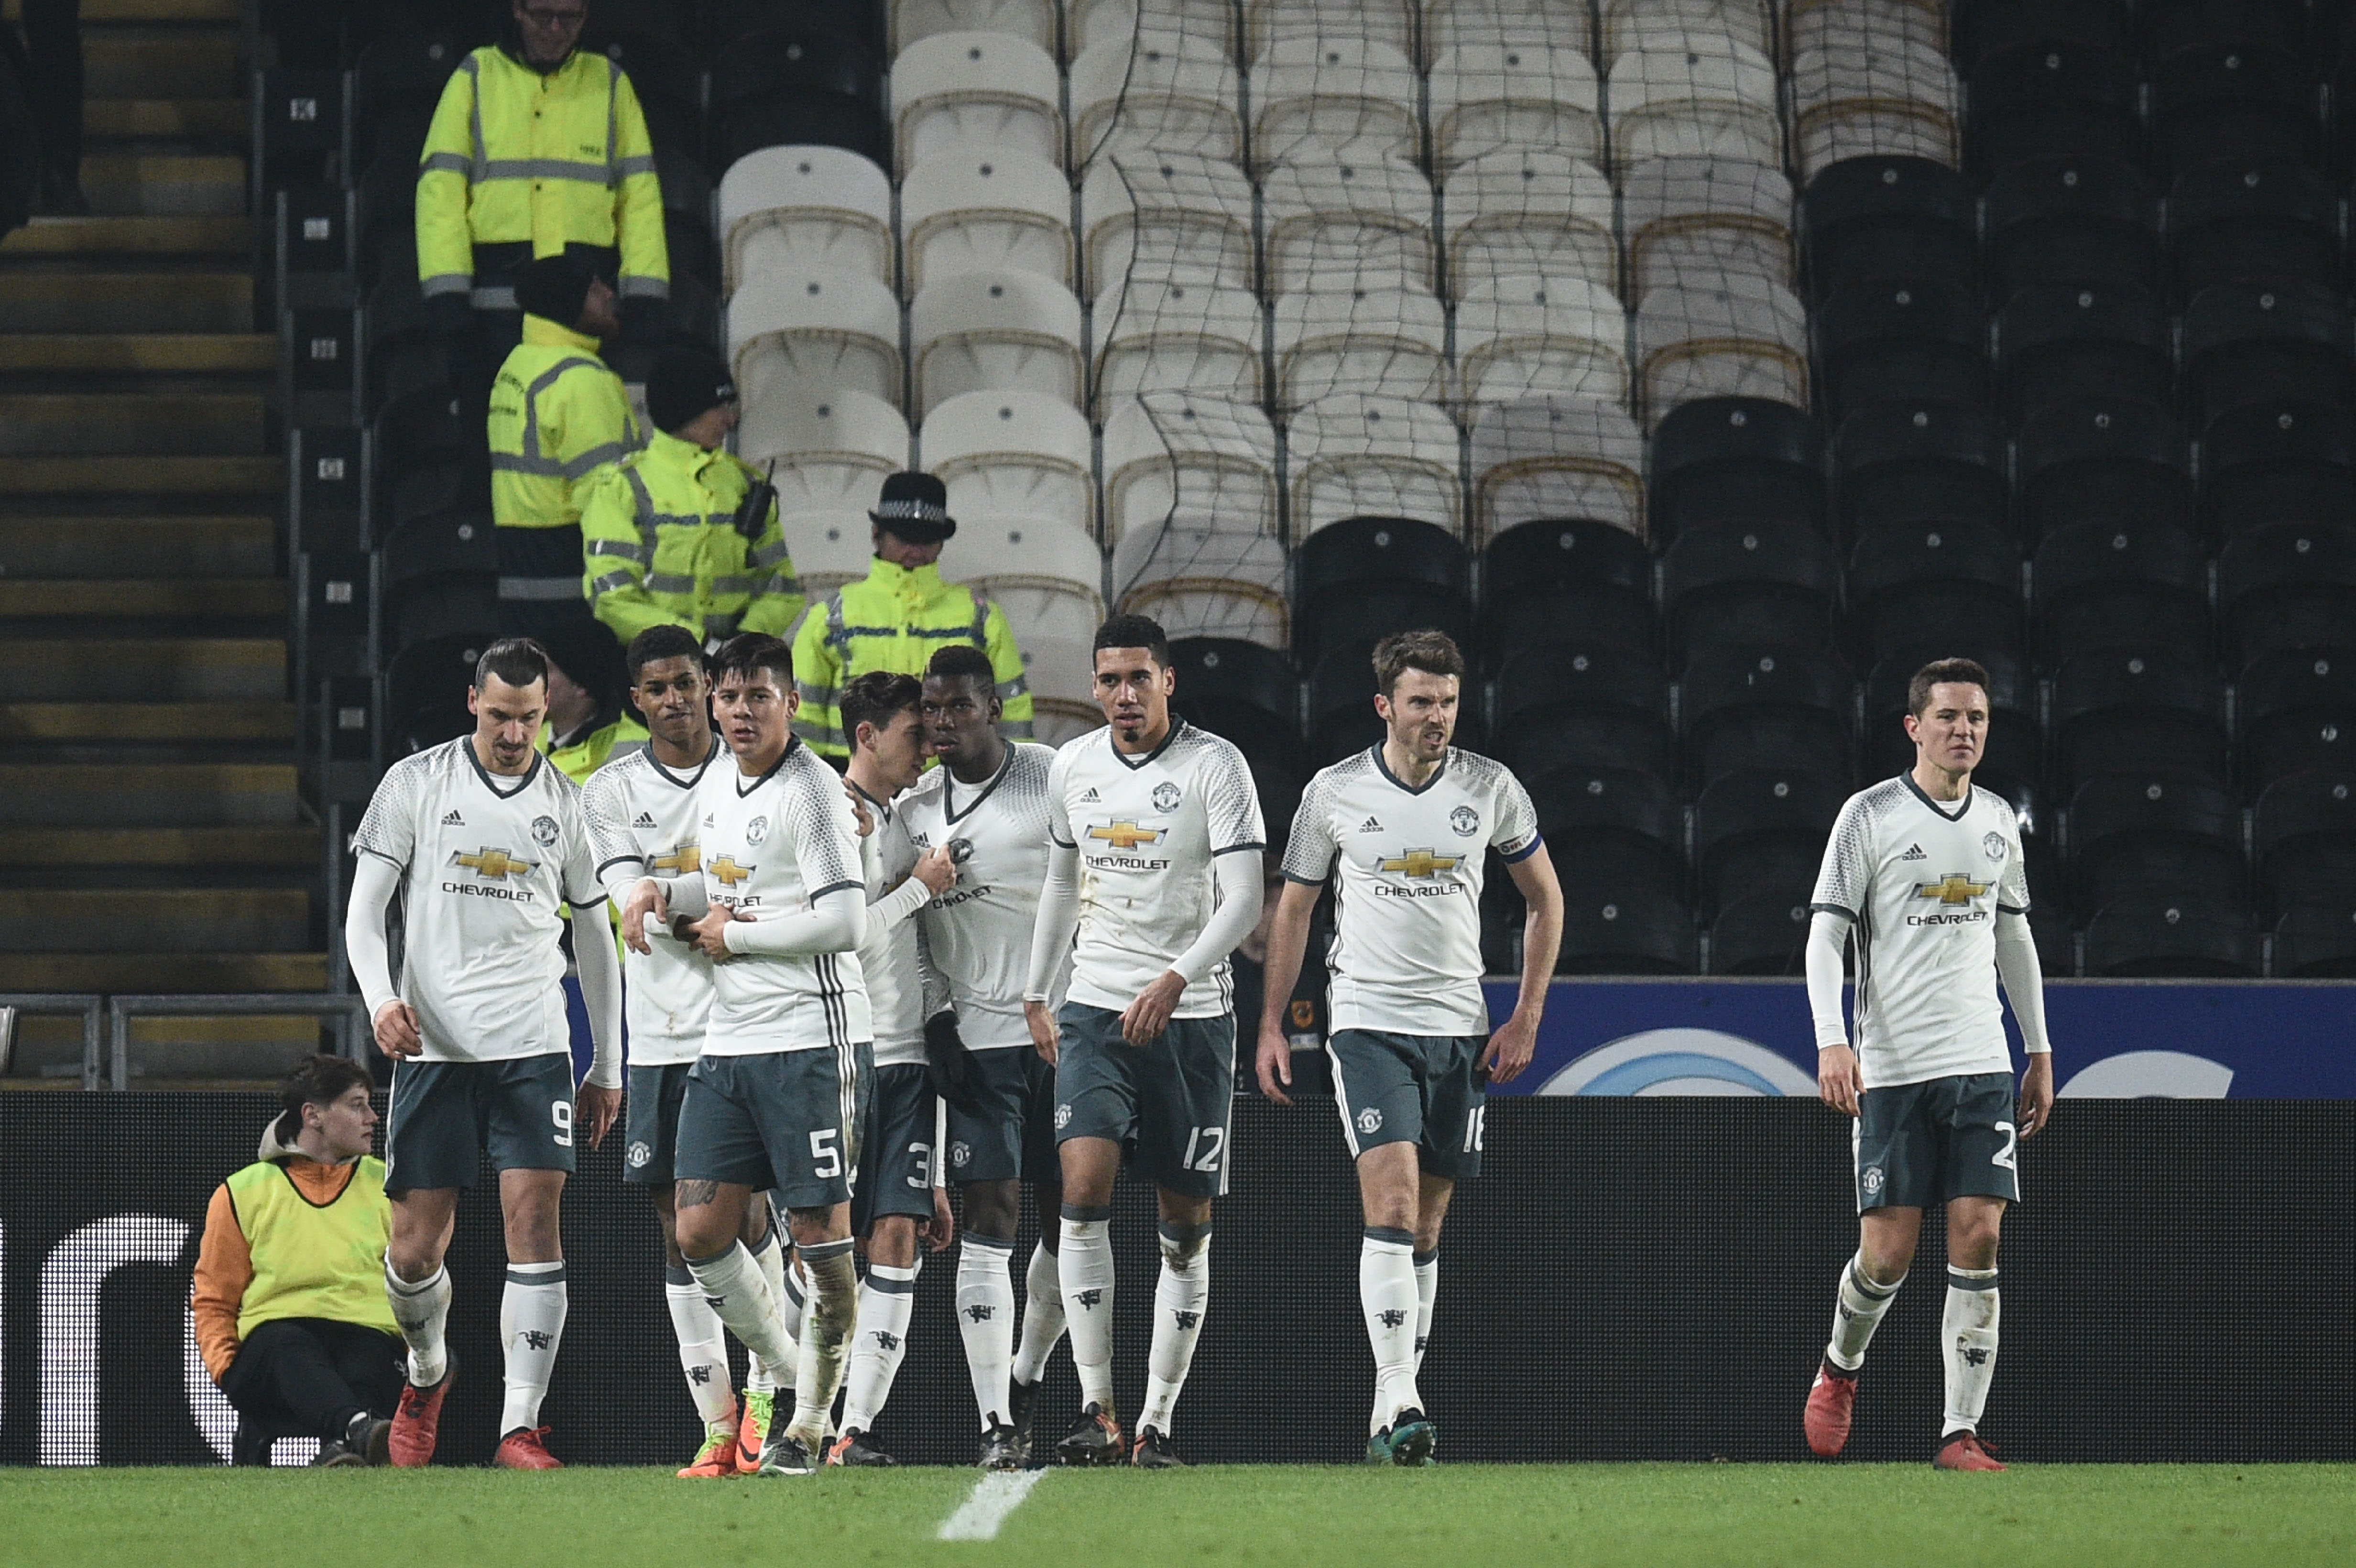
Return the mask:
<svg viewBox="0 0 2356 1568"><path fill-rule="evenodd" d="M490 520L499 527L580 523L582 480L638 450L629 393L587 332L523 318L490 384Z"/></svg>

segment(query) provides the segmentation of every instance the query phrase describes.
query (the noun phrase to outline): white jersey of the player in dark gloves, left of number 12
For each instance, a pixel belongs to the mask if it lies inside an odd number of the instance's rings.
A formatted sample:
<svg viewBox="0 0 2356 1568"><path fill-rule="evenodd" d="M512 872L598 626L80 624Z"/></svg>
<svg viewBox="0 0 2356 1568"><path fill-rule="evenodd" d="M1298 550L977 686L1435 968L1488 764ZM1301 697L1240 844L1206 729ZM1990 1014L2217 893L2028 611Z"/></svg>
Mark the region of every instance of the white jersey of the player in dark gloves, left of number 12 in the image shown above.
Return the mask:
<svg viewBox="0 0 2356 1568"><path fill-rule="evenodd" d="M1011 742L987 784L959 784L947 768L931 768L900 796L916 848L947 845L957 855L957 885L926 906L924 935L933 965L949 982L957 1034L973 1050L1030 1050L1032 1043L1023 984L1046 883L1053 768L1053 746ZM1063 975L1048 1005L1058 1001Z"/></svg>

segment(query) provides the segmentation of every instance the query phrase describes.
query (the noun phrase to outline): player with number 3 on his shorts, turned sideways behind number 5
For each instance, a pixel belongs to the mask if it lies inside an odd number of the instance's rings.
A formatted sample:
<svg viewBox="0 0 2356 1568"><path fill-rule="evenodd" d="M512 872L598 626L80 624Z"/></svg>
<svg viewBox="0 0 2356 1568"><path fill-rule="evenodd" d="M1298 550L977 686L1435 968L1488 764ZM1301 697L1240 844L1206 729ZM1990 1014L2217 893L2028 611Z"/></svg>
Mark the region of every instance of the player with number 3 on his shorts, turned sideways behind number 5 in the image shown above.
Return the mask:
<svg viewBox="0 0 2356 1568"><path fill-rule="evenodd" d="M895 798L924 772L921 690L914 676L867 671L841 695L846 779L867 810L860 841L867 876L867 937L860 975L874 1022L874 1088L860 1132L860 1180L851 1194L851 1234L867 1243L860 1321L843 1375L843 1427L827 1443L827 1464L895 1464L874 1441L874 1417L891 1398L907 1318L916 1302L919 1241L935 1253L957 1236L949 1198L935 1175L940 1107L924 1064L924 1003L931 965L916 911L949 885L949 852L919 852Z"/></svg>

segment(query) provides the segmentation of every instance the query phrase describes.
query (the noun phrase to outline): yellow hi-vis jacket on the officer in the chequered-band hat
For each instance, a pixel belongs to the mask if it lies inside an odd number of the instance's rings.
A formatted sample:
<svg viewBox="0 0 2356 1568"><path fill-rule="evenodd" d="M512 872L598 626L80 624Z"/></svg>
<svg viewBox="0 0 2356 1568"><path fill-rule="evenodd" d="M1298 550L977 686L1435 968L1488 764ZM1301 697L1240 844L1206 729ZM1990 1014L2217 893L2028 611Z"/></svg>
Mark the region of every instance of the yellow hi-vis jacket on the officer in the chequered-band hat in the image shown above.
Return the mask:
<svg viewBox="0 0 2356 1568"><path fill-rule="evenodd" d="M924 678L933 650L971 643L990 655L999 680L999 735L1032 737L1032 697L1023 680L1023 650L1006 612L980 589L942 582L938 565L902 567L876 556L860 582L846 582L825 605L813 605L794 638L794 690L801 711L794 735L820 756L851 756L843 735L843 687L884 669Z"/></svg>

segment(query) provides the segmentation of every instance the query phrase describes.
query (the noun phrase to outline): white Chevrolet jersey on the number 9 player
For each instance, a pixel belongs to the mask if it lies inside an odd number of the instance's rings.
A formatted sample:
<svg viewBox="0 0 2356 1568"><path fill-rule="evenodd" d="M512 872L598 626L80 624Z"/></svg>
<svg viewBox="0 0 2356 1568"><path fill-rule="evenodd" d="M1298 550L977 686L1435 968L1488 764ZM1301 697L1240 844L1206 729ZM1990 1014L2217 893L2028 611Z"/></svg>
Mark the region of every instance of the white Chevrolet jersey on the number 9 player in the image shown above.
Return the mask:
<svg viewBox="0 0 2356 1568"><path fill-rule="evenodd" d="M386 768L351 848L401 866L401 975L426 1062L573 1050L558 906L605 899L573 779L535 756L509 779L474 737Z"/></svg>

